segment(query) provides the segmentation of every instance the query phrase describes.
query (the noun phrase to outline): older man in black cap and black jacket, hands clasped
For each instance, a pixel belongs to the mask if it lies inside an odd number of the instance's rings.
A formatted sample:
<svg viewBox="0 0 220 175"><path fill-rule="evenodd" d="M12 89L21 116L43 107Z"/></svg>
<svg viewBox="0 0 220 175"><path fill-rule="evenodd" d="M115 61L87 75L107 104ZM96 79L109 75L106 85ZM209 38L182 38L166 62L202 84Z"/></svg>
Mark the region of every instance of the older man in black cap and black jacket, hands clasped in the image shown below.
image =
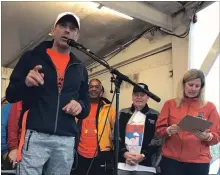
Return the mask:
<svg viewBox="0 0 220 175"><path fill-rule="evenodd" d="M138 84L149 91L144 83ZM155 135L158 112L148 107L149 97L136 86L130 108L119 116L119 175L153 175L162 140ZM152 167L147 169L147 167ZM127 169L131 171L127 171Z"/></svg>

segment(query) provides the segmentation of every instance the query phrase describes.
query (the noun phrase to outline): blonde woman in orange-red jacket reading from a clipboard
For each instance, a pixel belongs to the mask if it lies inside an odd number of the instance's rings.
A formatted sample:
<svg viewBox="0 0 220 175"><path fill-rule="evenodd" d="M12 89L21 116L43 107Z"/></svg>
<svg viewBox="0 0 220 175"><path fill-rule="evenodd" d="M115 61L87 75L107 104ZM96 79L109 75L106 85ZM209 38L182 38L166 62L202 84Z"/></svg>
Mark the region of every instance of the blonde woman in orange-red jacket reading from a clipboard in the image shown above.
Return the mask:
<svg viewBox="0 0 220 175"><path fill-rule="evenodd" d="M161 169L163 175L208 175L210 145L220 142L220 118L216 107L204 100L205 76L191 69L184 76L175 99L165 102L156 124L164 138ZM186 132L178 123L186 115L213 123L204 132Z"/></svg>

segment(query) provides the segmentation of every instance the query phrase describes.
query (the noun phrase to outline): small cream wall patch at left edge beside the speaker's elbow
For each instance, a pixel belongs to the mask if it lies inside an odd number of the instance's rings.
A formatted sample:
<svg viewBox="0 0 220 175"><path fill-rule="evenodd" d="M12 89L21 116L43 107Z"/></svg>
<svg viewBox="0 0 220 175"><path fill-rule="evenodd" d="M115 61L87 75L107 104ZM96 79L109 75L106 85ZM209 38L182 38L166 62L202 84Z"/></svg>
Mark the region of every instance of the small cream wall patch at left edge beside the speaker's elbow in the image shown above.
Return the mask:
<svg viewBox="0 0 220 175"><path fill-rule="evenodd" d="M11 68L5 68L5 67L1 67L1 97L4 97L5 96L5 91L6 91L6 88L8 87L8 84L9 84L9 78L10 78L10 75L12 73L12 70Z"/></svg>

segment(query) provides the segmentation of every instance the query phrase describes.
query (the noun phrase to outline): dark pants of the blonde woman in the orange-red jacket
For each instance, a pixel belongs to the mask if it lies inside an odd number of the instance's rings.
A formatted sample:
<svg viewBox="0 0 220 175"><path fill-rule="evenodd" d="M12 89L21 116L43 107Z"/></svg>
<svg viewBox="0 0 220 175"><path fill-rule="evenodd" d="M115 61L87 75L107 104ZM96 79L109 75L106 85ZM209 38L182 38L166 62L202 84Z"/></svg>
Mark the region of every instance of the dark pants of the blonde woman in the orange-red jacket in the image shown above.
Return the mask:
<svg viewBox="0 0 220 175"><path fill-rule="evenodd" d="M208 175L209 163L186 163L162 158L162 175Z"/></svg>

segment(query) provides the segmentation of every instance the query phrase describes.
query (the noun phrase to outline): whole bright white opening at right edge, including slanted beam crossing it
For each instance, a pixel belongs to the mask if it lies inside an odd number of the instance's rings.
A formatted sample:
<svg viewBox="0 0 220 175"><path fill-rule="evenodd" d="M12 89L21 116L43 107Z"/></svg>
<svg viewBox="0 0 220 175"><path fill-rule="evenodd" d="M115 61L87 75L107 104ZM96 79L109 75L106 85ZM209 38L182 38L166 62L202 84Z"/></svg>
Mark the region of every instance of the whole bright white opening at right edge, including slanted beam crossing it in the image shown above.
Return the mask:
<svg viewBox="0 0 220 175"><path fill-rule="evenodd" d="M215 62L213 60L217 56L216 54L219 55L219 38L217 38L220 33L219 5L219 2L215 2L197 14L198 22L191 27L189 52L190 68L203 71L209 71L211 68L209 72L205 72L207 75L206 98L216 105L218 112L220 112L219 56ZM215 42L216 44L214 44Z"/></svg>

